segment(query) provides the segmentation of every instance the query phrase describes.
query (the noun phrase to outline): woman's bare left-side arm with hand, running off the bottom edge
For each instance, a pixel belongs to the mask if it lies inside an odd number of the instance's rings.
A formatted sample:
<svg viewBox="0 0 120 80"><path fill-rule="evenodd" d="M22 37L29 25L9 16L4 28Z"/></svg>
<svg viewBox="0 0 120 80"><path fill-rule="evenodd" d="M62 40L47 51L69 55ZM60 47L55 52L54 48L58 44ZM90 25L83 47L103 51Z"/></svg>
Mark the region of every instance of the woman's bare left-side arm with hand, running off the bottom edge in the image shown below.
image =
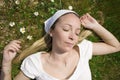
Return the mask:
<svg viewBox="0 0 120 80"><path fill-rule="evenodd" d="M12 69L12 60L16 56L17 52L21 48L20 41L14 40L11 41L3 51L3 60L2 60L2 80L12 80L11 78L11 69ZM23 73L19 73L18 76L14 80L29 80Z"/></svg>

